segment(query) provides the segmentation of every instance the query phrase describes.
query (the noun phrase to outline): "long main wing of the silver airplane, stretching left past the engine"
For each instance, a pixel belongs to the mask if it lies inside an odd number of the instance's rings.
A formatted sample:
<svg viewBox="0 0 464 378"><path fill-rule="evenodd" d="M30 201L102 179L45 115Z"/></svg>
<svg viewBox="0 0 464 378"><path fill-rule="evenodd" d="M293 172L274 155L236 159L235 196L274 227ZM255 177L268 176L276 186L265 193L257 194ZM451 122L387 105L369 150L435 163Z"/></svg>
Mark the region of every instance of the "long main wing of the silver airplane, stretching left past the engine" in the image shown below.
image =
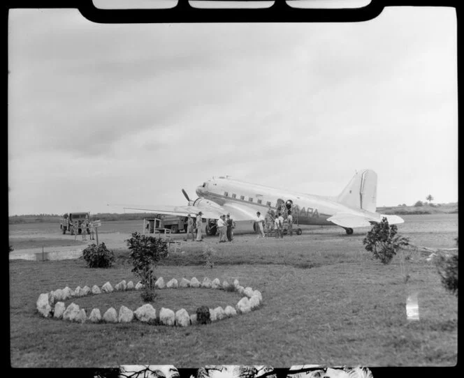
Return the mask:
<svg viewBox="0 0 464 378"><path fill-rule="evenodd" d="M219 216L231 214L233 220L254 220L256 211L249 206L226 202L219 206L215 202L204 201L198 206L140 206L140 207L124 207L124 209L147 211L150 213L167 214L173 216L187 216L191 214L196 216L198 211L203 213L202 218L219 219Z"/></svg>

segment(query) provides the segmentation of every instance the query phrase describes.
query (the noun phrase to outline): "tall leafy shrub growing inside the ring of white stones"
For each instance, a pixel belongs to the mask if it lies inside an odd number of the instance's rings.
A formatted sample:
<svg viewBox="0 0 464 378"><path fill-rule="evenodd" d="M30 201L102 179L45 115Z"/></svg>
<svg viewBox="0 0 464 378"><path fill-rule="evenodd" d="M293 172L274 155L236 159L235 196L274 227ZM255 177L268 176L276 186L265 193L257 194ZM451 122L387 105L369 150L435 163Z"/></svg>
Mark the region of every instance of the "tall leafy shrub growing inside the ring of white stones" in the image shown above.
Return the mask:
<svg viewBox="0 0 464 378"><path fill-rule="evenodd" d="M133 264L132 272L140 278L143 285L140 296L145 302L153 301L156 296L154 282L157 280L154 268L157 262L168 255L168 243L161 238L138 232L134 232L126 243L131 251L129 257Z"/></svg>

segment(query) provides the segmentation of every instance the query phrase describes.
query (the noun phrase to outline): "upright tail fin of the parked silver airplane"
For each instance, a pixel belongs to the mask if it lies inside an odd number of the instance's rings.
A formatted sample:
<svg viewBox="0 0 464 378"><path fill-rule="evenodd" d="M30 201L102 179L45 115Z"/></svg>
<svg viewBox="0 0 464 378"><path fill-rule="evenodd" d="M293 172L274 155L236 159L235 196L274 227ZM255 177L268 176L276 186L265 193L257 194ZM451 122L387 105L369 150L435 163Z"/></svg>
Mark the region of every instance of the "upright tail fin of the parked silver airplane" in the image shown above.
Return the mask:
<svg viewBox="0 0 464 378"><path fill-rule="evenodd" d="M353 176L337 197L337 202L354 209L375 213L377 209L377 174L372 169L363 169Z"/></svg>

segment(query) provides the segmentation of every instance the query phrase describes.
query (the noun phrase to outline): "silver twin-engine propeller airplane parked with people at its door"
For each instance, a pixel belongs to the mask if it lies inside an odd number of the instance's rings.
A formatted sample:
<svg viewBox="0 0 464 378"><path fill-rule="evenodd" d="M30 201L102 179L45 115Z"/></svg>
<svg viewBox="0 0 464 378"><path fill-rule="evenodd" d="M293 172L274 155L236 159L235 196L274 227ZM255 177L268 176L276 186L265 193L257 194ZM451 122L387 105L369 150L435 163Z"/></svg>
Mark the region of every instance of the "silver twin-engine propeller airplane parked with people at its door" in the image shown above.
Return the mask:
<svg viewBox="0 0 464 378"><path fill-rule="evenodd" d="M191 200L182 189L187 206L150 206L152 209L126 207L125 209L153 211L176 216L196 215L201 211L206 222L206 233L216 233L215 222L223 214L230 214L235 221L256 220L256 212L291 211L298 225L338 225L348 235L356 227L369 227L386 218L389 224L403 223L399 216L376 213L377 174L372 169L362 169L354 174L338 196L327 197L290 192L254 183L219 176L203 182L196 188L198 198ZM297 230L301 234L301 229Z"/></svg>

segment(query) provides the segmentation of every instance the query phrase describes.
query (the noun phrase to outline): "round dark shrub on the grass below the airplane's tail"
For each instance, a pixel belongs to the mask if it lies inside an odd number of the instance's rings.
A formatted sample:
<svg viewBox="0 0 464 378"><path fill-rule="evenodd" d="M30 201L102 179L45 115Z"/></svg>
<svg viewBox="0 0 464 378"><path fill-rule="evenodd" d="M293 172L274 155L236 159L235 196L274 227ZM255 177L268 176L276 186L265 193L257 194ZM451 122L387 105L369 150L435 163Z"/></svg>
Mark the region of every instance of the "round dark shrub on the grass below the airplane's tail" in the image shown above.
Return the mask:
<svg viewBox="0 0 464 378"><path fill-rule="evenodd" d="M365 236L363 240L365 249L372 252L372 255L383 264L390 264L396 252L409 244L409 239L396 235L397 232L396 225L389 225L388 220L382 218L382 221L376 223Z"/></svg>

